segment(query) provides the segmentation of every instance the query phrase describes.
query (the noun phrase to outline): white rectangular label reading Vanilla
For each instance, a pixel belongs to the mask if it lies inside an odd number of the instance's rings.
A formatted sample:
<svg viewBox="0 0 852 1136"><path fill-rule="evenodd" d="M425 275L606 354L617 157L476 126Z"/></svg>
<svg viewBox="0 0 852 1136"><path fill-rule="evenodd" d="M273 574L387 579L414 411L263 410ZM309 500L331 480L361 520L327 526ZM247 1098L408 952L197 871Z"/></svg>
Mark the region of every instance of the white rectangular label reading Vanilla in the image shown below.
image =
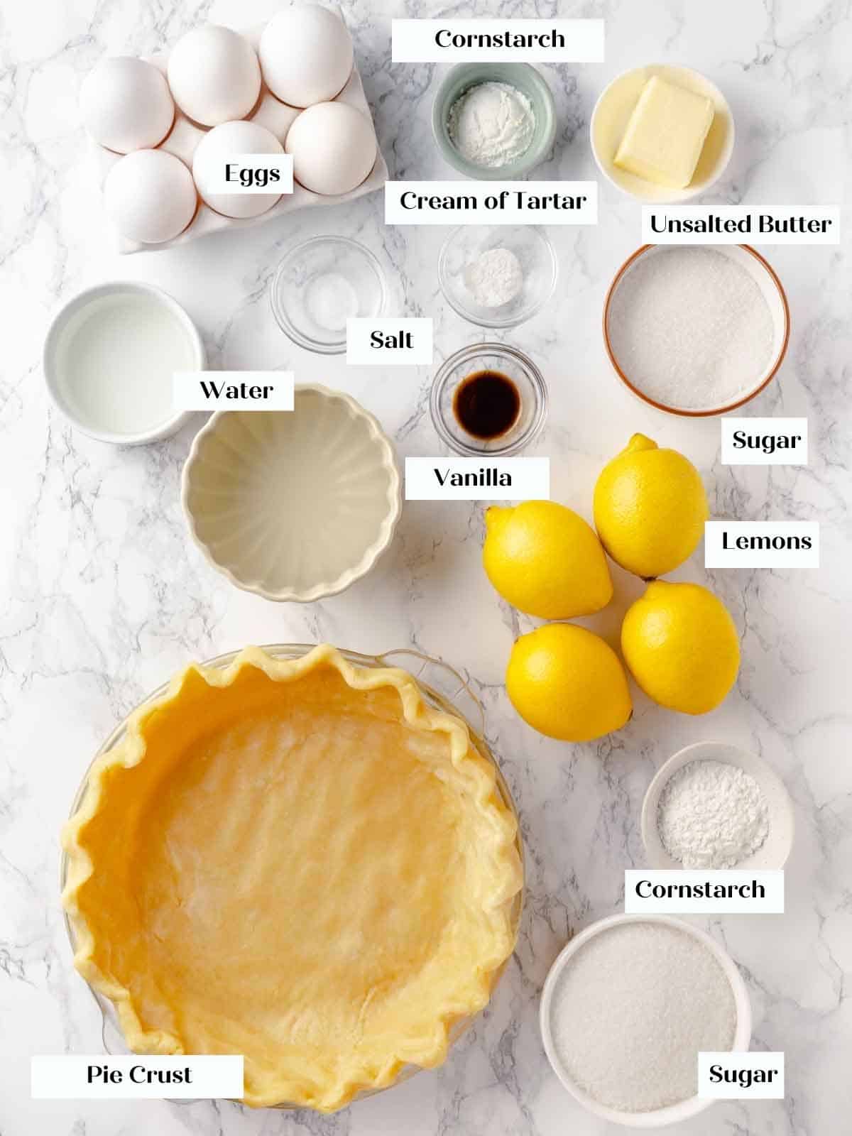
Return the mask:
<svg viewBox="0 0 852 1136"><path fill-rule="evenodd" d="M406 458L407 501L546 501L550 458Z"/></svg>

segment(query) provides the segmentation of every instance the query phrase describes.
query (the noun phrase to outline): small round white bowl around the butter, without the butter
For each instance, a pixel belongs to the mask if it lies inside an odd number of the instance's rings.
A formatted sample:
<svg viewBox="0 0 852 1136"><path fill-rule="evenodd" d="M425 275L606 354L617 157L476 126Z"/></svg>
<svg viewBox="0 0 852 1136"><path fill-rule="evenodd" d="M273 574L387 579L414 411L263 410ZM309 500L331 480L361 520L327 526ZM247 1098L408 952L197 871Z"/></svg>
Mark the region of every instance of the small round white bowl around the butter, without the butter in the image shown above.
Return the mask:
<svg viewBox="0 0 852 1136"><path fill-rule="evenodd" d="M660 78L683 86L694 94L704 95L716 109L695 174L684 190L646 182L626 169L619 169L615 164L616 152L627 130L633 108L643 86L653 75L659 75ZM637 201L658 204L688 201L690 198L707 193L725 173L734 151L734 118L725 95L700 72L693 70L692 67L675 67L671 64L634 67L613 78L595 103L590 134L594 160L607 181Z"/></svg>

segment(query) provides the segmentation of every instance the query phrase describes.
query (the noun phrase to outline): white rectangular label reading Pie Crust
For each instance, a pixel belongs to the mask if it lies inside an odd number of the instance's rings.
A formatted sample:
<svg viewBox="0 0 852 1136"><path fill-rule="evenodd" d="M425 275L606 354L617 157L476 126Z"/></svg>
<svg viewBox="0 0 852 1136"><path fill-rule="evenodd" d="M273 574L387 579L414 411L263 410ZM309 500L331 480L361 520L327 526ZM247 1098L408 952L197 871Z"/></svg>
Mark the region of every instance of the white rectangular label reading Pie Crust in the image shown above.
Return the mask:
<svg viewBox="0 0 852 1136"><path fill-rule="evenodd" d="M243 1095L240 1055L35 1056L31 1095L37 1101L159 1101L239 1099Z"/></svg>

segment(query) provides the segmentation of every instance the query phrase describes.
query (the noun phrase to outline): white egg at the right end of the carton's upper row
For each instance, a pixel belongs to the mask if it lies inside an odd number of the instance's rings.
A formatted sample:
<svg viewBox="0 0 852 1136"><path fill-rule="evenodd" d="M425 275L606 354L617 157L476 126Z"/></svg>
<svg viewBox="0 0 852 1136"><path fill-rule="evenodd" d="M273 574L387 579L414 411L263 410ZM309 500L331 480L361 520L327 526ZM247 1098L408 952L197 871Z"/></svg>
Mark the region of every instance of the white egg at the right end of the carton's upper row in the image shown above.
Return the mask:
<svg viewBox="0 0 852 1136"><path fill-rule="evenodd" d="M266 85L291 107L333 99L352 74L349 30L320 5L278 12L264 28L258 53Z"/></svg>

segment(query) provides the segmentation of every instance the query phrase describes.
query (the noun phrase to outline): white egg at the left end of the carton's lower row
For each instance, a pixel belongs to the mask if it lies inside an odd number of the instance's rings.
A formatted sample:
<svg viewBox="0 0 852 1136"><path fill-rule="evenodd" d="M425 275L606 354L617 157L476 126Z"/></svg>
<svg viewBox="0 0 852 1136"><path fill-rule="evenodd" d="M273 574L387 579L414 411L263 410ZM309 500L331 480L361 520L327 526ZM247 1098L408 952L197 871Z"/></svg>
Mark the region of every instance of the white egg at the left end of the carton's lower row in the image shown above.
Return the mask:
<svg viewBox="0 0 852 1136"><path fill-rule="evenodd" d="M118 232L140 244L161 244L195 216L192 174L166 150L136 150L110 169L103 202Z"/></svg>

